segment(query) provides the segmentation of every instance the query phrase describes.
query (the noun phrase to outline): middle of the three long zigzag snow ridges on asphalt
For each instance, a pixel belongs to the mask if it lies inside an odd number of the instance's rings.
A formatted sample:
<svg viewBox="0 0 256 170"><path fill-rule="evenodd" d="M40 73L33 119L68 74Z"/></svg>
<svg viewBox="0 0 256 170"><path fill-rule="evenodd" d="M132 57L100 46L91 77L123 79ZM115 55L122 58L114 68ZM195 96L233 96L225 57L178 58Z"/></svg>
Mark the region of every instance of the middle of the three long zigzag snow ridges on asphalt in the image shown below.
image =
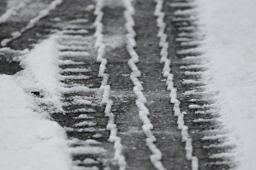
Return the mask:
<svg viewBox="0 0 256 170"><path fill-rule="evenodd" d="M136 47L136 40L134 39L134 37L136 36L136 32L133 29L135 23L134 23L134 19L133 19L132 15L134 14L135 9L132 5L132 0L125 0L124 6L126 8L126 10L124 11L124 18L126 19L125 28L127 31L126 50L128 51L128 53L131 57L131 59L128 61L128 65L130 66L130 69L132 70L132 72L130 74L130 79L132 80L132 82L134 84L133 92L137 97L136 106L139 109L139 116L143 122L142 130L143 130L144 134L146 135L146 145L152 152L152 154L150 155L150 161L152 162L152 164L154 165L154 167L157 170L166 170L166 168L164 168L164 166L161 162L162 153L154 144L154 142L156 142L156 137L153 135L153 133L151 131L151 129L153 129L154 127L153 127L152 123L150 122L150 120L148 119L148 115L150 115L150 113L149 113L148 109L146 108L146 106L144 105L147 102L147 100L142 93L142 90L143 90L142 84L138 80L138 77L141 76L141 72L140 72L140 70L138 70L138 67L136 66L136 63L138 63L138 61L139 61L139 56L136 53L136 51L134 50L134 47Z"/></svg>

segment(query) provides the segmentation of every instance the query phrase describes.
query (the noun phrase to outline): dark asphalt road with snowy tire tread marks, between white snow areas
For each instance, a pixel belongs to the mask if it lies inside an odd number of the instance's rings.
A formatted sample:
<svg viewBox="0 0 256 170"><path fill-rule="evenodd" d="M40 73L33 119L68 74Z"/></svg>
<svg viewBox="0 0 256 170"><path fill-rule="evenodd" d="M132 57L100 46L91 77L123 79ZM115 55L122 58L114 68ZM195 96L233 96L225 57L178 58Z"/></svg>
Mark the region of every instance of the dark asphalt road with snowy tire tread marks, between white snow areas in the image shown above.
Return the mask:
<svg viewBox="0 0 256 170"><path fill-rule="evenodd" d="M0 73L22 70L8 61L57 35L70 90L51 116L66 129L74 170L229 169L218 155L232 147L221 147L226 132L200 79L206 61L197 57L203 35L193 9L190 0L64 0L31 27L36 16L12 15L0 25L2 47L13 49Z"/></svg>

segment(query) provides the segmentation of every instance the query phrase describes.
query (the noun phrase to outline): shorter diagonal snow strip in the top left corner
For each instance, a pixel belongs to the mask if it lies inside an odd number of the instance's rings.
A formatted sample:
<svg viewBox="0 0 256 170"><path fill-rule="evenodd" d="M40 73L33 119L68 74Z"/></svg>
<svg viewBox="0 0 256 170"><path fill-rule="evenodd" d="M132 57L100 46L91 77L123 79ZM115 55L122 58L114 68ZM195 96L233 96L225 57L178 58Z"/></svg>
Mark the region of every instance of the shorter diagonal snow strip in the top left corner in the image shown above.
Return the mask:
<svg viewBox="0 0 256 170"><path fill-rule="evenodd" d="M17 6L12 6L8 10L6 10L6 12L4 14L2 14L2 16L0 17L0 24L5 23L12 14L14 14L16 11L20 10L21 8L24 8L25 6L27 6L27 4L30 1L31 0L24 0L24 1L20 2Z"/></svg>

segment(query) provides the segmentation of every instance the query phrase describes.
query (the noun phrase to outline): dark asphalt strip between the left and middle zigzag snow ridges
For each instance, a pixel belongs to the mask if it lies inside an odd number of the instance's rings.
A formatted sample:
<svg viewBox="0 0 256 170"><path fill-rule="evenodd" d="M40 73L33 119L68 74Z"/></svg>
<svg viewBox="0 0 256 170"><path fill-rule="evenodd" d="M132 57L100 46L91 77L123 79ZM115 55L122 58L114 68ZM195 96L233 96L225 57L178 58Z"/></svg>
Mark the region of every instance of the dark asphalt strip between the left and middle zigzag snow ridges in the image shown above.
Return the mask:
<svg viewBox="0 0 256 170"><path fill-rule="evenodd" d="M126 157L127 170L154 169L150 162L150 151L145 145L145 135L141 131L142 123L139 120L135 105L135 96L132 92L133 84L130 81L130 59L125 47L124 6L118 1L103 8L106 14L103 18L104 42L106 44L105 58L108 59L106 72L109 74L109 83L112 89L110 98L113 100L112 112L118 128L118 136L122 138L123 154Z"/></svg>

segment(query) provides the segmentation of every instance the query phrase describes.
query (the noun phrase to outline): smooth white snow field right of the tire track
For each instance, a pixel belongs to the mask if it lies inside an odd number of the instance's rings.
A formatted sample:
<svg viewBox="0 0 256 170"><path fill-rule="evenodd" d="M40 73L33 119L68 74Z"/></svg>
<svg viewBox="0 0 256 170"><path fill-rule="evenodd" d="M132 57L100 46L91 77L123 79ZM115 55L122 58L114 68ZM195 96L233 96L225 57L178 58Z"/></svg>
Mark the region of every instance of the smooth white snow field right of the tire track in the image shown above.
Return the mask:
<svg viewBox="0 0 256 170"><path fill-rule="evenodd" d="M209 57L203 74L207 89L218 94L220 118L237 145L237 169L256 167L256 1L197 0Z"/></svg>

